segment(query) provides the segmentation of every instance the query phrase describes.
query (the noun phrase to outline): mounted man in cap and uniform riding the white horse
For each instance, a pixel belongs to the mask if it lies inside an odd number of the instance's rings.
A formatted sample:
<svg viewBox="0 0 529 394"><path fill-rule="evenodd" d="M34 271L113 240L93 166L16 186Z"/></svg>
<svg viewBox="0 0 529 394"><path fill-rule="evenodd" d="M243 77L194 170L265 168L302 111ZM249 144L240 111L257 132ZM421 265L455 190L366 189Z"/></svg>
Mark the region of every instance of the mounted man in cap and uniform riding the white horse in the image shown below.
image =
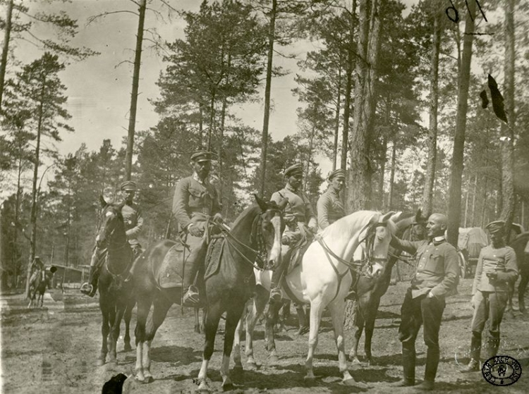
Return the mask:
<svg viewBox="0 0 529 394"><path fill-rule="evenodd" d="M303 234L307 233L308 229L312 233L317 232L317 220L310 206L310 201L305 193L300 190L301 180L303 180L303 168L301 164L294 164L285 170L286 186L275 192L271 201L279 204L283 199L288 199L288 204L285 208L285 223L283 237L281 238L281 264L272 273L272 281L270 283L270 300L281 300L281 276L288 266L290 260L289 253L293 245L296 244Z"/></svg>

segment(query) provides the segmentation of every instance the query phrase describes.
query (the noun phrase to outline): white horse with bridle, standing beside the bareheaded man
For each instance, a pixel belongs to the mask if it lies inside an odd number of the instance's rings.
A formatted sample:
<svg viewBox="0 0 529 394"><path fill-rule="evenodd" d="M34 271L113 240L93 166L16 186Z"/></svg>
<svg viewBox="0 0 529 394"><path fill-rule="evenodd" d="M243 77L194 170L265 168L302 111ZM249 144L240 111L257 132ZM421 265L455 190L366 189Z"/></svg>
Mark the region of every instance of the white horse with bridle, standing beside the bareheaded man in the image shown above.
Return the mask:
<svg viewBox="0 0 529 394"><path fill-rule="evenodd" d="M367 259L363 269L366 269L372 276L379 275L383 269L382 264L387 261L391 233L395 232L393 220L396 220L394 212L382 215L375 211L358 211L341 218L316 236L305 252L301 264L284 278L284 295L286 293L288 297L298 303L310 303L309 350L305 362L307 369L305 379L313 380L315 378L312 371L312 359L317 345L322 313L325 307L329 307L343 382L346 384L354 383L354 379L347 368L343 341L345 297L352 281L350 261L353 261L353 253L360 243L365 242ZM358 266L352 268L360 269ZM270 286L269 272L258 273L256 276L257 283L260 283L262 288L257 286L257 296L250 300L251 304L247 305L247 312L250 313L246 316L245 354L248 357L249 369L256 367L253 358L253 328L259 314L266 307ZM276 310L279 310L279 307L280 305L277 305ZM269 309L272 309L272 305ZM274 312L269 313L274 315ZM242 369L241 331L242 319L238 324L233 345L233 359L236 364L235 367L238 369ZM273 324L267 321L267 350L269 350L272 360L277 358L273 335Z"/></svg>

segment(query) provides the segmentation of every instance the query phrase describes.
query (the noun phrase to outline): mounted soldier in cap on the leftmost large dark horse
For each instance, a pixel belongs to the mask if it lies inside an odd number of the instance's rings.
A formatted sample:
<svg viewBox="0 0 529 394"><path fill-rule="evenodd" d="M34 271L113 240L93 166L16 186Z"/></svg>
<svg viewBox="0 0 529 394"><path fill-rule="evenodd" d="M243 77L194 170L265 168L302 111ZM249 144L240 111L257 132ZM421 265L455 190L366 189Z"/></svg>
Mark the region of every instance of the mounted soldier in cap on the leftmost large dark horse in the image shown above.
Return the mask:
<svg viewBox="0 0 529 394"><path fill-rule="evenodd" d="M137 190L136 183L132 180L126 180L121 183L121 197L123 199L123 208L121 208L121 214L123 215L123 223L125 224L125 230L127 240L130 247L133 250L134 259L140 255L142 248L138 235L140 235L143 228L143 216L138 207L138 204L134 203L134 196ZM97 290L97 279L99 278L99 269L104 261L104 250L100 250L97 245L95 246L94 253L92 254L92 260L90 261L90 276L88 282L83 283L80 288L80 292L94 297ZM133 267L130 269L132 271Z"/></svg>

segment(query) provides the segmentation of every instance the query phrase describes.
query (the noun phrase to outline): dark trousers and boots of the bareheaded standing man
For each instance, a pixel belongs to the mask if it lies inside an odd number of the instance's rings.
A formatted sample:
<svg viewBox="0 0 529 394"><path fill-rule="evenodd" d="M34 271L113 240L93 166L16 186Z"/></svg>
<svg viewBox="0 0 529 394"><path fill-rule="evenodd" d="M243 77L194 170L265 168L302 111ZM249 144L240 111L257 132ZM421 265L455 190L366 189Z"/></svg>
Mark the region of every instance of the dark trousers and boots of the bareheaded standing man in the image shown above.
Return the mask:
<svg viewBox="0 0 529 394"><path fill-rule="evenodd" d="M439 328L444 311L444 299L427 295L412 298L411 288L406 292L401 307L399 340L402 343L404 379L415 381L415 340L424 324L424 340L427 346L425 381L434 381L439 364Z"/></svg>

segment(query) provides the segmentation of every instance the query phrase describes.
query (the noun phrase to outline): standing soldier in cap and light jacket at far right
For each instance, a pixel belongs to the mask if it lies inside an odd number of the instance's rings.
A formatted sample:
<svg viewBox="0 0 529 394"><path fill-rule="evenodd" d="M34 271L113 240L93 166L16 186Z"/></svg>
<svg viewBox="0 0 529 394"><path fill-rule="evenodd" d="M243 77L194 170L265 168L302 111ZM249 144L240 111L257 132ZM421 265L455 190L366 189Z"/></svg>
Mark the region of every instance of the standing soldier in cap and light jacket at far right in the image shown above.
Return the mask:
<svg viewBox="0 0 529 394"><path fill-rule="evenodd" d="M505 245L505 222L493 221L485 227L491 244L484 247L478 258L472 286L474 309L472 338L470 339L470 362L462 372L479 371L481 333L489 320L487 359L494 357L499 347L499 325L509 301L509 285L518 278L516 253Z"/></svg>

